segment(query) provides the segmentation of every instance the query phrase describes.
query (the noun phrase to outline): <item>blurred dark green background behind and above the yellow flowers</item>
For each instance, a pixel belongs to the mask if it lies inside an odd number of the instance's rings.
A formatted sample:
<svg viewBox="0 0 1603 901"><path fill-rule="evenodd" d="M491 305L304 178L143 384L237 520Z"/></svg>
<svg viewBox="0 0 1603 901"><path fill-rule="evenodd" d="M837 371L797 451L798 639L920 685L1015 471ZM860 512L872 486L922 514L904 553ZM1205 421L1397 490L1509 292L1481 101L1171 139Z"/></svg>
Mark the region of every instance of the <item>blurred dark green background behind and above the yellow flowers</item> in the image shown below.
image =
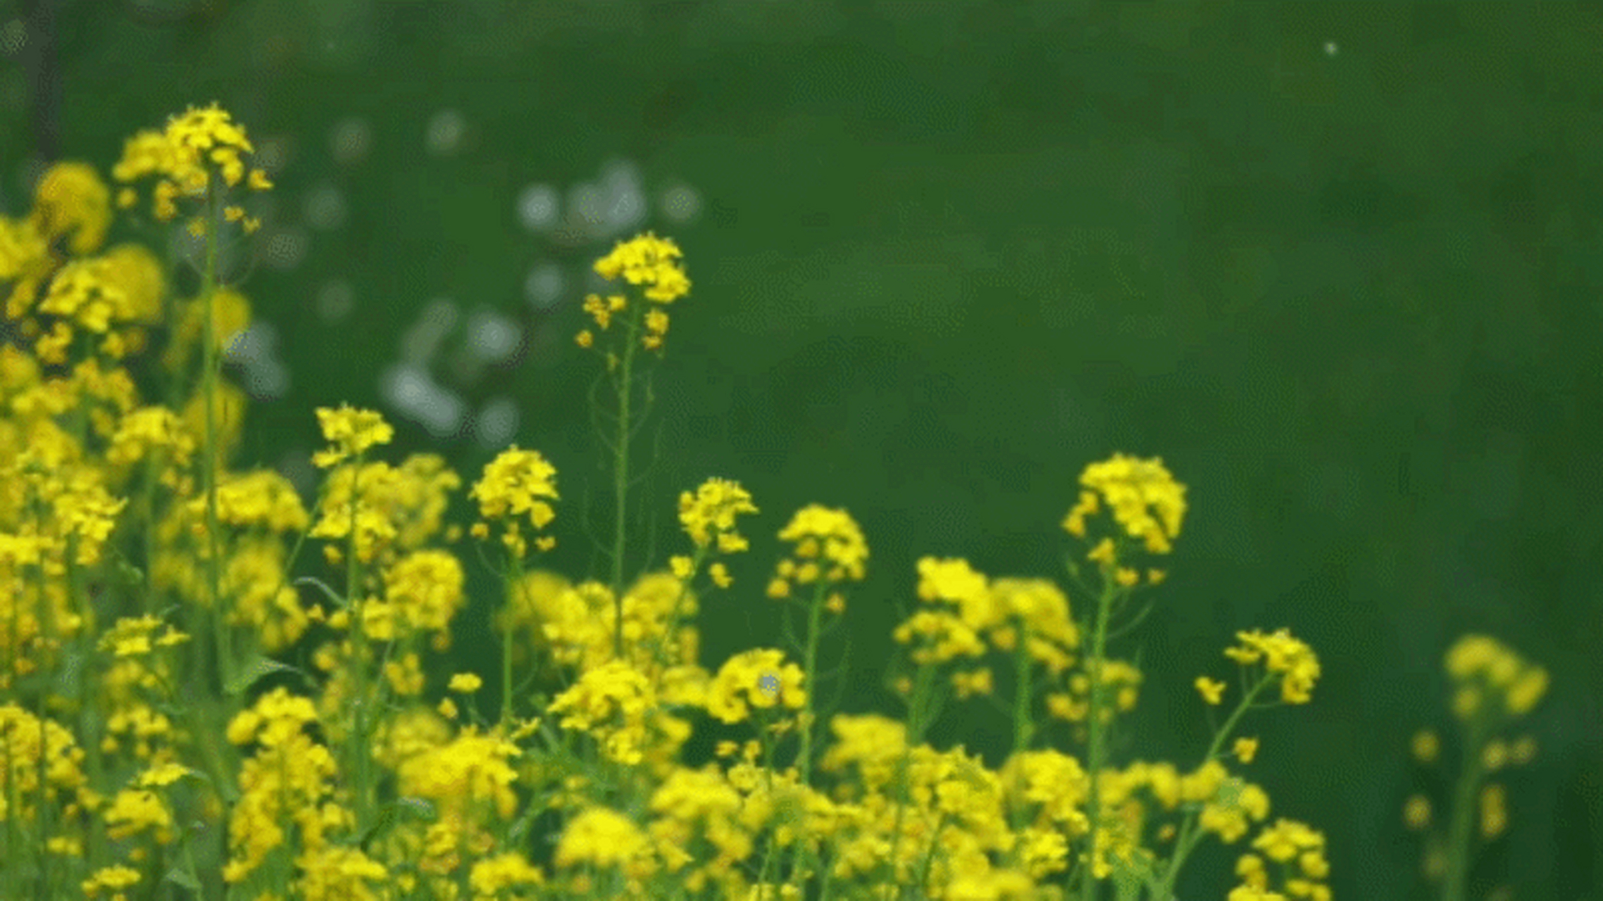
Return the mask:
<svg viewBox="0 0 1603 901"><path fill-rule="evenodd" d="M1451 725L1441 653L1489 632L1553 685L1478 880L1597 899L1600 42L1569 3L0 0L0 204L221 101L277 181L234 261L240 463L311 491L340 401L470 479L539 447L571 576L604 513L587 265L668 234L694 292L656 383L656 564L680 489L763 510L709 664L776 641L790 511L846 507L874 558L843 705L893 710L917 556L1056 576L1080 468L1162 455L1193 508L1119 648L1148 673L1132 754L1194 763L1191 680L1289 625L1324 678L1255 728L1271 816L1329 834L1337 896L1420 896L1399 811L1441 786L1407 737ZM935 741L995 762L1007 734L976 712Z"/></svg>

